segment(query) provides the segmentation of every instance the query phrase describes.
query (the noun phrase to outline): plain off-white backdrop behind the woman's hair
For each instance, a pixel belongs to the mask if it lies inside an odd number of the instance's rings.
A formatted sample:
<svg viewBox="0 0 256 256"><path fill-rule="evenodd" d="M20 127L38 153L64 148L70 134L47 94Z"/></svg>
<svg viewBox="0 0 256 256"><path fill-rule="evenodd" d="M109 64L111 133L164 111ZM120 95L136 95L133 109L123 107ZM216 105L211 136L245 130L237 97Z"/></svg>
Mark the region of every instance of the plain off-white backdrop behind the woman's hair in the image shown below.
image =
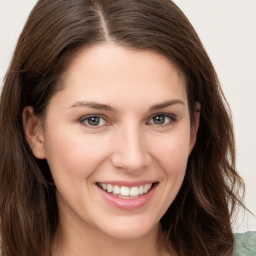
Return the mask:
<svg viewBox="0 0 256 256"><path fill-rule="evenodd" d="M36 0L0 0L0 84L17 37ZM256 215L256 0L174 0L202 40L232 109L237 169L245 204ZM234 231L256 230L240 211Z"/></svg>

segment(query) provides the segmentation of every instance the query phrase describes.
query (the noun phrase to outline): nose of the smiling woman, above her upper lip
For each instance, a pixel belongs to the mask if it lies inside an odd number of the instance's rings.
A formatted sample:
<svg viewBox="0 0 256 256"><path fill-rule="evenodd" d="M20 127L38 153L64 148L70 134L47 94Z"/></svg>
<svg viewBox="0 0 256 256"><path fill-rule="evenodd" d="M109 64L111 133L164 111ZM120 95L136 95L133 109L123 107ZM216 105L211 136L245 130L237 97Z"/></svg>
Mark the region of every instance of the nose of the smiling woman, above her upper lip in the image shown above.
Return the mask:
<svg viewBox="0 0 256 256"><path fill-rule="evenodd" d="M147 167L151 156L146 143L146 138L139 128L129 125L119 132L114 140L112 164L116 168L136 172Z"/></svg>

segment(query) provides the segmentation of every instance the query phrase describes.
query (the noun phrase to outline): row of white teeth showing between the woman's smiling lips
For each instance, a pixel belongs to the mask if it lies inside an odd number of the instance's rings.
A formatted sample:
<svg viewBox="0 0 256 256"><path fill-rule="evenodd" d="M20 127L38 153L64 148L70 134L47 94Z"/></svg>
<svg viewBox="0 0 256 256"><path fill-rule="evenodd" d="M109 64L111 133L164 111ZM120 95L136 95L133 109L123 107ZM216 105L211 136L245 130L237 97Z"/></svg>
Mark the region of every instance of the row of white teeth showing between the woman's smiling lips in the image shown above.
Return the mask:
<svg viewBox="0 0 256 256"><path fill-rule="evenodd" d="M96 184L107 193L117 196L119 198L134 199L140 197L143 194L146 194L155 183L156 182L132 187L118 186L100 182Z"/></svg>

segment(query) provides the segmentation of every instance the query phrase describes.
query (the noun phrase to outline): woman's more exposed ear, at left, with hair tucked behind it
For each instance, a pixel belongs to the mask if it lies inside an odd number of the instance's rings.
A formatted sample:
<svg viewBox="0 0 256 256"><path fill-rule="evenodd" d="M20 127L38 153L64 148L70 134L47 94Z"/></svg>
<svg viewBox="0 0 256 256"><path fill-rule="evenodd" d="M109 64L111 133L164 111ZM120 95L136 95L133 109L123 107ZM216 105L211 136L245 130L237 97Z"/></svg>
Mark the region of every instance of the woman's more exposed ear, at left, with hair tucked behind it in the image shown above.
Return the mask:
<svg viewBox="0 0 256 256"><path fill-rule="evenodd" d="M25 106L22 111L23 129L25 138L33 155L36 158L44 159L44 135L41 121L34 115L32 106Z"/></svg>

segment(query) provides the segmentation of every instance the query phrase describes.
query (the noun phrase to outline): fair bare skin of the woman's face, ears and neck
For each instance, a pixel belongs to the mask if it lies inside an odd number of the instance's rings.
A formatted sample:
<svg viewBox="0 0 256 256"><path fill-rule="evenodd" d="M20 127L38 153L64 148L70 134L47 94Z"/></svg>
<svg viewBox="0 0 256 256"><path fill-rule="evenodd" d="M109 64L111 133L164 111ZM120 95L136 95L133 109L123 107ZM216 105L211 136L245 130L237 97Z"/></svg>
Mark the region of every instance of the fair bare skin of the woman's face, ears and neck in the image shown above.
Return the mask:
<svg viewBox="0 0 256 256"><path fill-rule="evenodd" d="M75 56L63 80L44 120L23 110L27 141L57 188L53 255L163 255L159 220L182 184L199 122L196 111L190 124L183 76L153 51L104 43ZM100 115L99 125L88 115ZM157 186L145 205L126 210L101 195L96 183L108 180Z"/></svg>

